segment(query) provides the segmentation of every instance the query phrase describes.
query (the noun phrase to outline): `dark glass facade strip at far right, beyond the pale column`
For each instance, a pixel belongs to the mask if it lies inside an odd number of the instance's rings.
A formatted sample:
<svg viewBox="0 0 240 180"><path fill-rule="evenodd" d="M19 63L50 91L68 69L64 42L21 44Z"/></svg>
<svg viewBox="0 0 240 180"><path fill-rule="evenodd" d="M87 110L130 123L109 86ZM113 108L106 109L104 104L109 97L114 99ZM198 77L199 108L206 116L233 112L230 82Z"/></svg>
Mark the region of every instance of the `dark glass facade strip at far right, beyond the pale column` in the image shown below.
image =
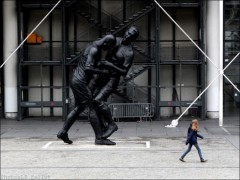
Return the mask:
<svg viewBox="0 0 240 180"><path fill-rule="evenodd" d="M240 52L240 1L225 0L224 2L224 66ZM225 75L240 89L240 57L226 69ZM240 93L224 80L224 116L239 117Z"/></svg>

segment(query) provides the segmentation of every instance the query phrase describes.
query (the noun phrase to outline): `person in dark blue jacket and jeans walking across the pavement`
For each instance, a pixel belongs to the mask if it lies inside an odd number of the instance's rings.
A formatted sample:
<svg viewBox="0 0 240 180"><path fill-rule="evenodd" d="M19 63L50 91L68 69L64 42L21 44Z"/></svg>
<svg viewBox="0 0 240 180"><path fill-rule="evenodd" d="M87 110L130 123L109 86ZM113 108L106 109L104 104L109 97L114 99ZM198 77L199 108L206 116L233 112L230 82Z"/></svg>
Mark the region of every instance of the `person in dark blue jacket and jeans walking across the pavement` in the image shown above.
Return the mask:
<svg viewBox="0 0 240 180"><path fill-rule="evenodd" d="M189 144L188 149L183 153L183 155L180 157L180 161L185 162L184 157L191 151L192 146L194 145L198 151L198 155L200 157L201 162L207 162L207 160L203 159L201 149L197 143L197 137L200 137L203 139L203 136L198 134L198 120L194 119L192 120L192 123L190 124L190 127L188 128L188 136L186 145Z"/></svg>

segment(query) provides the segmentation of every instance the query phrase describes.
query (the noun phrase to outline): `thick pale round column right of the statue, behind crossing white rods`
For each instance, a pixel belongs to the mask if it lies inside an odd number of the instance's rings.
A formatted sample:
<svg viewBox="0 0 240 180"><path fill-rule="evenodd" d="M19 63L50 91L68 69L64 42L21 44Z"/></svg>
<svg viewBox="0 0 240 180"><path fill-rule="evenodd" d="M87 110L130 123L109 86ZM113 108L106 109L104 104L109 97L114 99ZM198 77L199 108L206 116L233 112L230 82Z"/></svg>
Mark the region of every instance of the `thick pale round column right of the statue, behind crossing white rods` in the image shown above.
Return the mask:
<svg viewBox="0 0 240 180"><path fill-rule="evenodd" d="M212 59L212 61L219 67L221 65L222 59L222 38L220 38L221 31L223 31L221 26L221 21L223 17L220 16L220 3L221 1L208 0L207 1L207 54ZM219 70L209 61L207 61L207 84L209 84L214 77L219 74ZM207 117L208 118L219 118L219 100L220 95L222 95L222 87L220 87L220 80L216 80L215 83L207 91ZM222 108L221 108L222 111Z"/></svg>

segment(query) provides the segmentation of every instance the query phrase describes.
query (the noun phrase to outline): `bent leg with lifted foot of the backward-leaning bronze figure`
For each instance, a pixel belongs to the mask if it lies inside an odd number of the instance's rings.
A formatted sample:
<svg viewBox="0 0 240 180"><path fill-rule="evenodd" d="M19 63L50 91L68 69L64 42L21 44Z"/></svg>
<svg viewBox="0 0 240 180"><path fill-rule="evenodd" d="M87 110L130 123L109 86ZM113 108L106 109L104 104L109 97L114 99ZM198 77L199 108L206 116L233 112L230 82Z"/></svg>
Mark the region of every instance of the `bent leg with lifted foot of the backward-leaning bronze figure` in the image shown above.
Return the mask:
<svg viewBox="0 0 240 180"><path fill-rule="evenodd" d="M118 130L117 124L112 118L112 114L108 105L104 102L111 95L111 93L116 89L118 81L115 79L110 79L109 82L101 89L98 95L94 98L94 104L97 110L101 112L103 118L108 123L108 129L102 135L102 138L108 138L115 131Z"/></svg>

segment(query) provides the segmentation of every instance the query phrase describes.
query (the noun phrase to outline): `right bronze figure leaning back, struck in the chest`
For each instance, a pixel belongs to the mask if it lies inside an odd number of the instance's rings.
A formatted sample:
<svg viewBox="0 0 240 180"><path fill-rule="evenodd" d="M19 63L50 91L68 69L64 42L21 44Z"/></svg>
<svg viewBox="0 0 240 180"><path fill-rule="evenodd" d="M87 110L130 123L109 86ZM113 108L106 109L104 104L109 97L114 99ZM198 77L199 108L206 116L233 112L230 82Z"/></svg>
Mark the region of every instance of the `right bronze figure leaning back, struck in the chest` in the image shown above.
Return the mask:
<svg viewBox="0 0 240 180"><path fill-rule="evenodd" d="M132 65L134 53L131 42L136 40L138 35L138 29L131 26L125 31L123 38L116 38L117 44L113 49L108 51L105 58L106 60L99 62L100 67L110 70L110 76L104 74L99 75L93 86L94 105L97 108L97 114L99 116L102 115L108 123L107 130L102 135L102 138L108 138L118 129L112 119L110 109L105 102L112 92L117 89L120 77L126 76ZM99 117L99 119L101 118ZM105 123L102 124L104 125Z"/></svg>

